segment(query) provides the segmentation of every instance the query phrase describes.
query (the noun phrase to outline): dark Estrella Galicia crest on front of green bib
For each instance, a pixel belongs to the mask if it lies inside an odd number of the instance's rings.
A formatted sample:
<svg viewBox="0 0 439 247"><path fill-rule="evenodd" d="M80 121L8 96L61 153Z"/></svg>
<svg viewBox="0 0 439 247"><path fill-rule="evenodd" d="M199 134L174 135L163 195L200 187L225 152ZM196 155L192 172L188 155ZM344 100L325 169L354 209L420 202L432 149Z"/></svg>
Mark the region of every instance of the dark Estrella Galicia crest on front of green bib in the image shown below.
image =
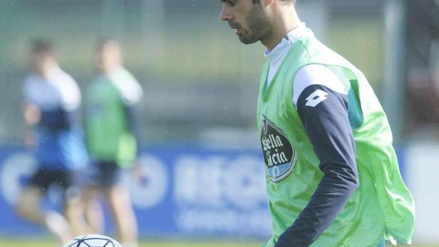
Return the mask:
<svg viewBox="0 0 439 247"><path fill-rule="evenodd" d="M265 170L272 182L286 178L296 163L296 152L285 134L270 120L262 120L260 127Z"/></svg>

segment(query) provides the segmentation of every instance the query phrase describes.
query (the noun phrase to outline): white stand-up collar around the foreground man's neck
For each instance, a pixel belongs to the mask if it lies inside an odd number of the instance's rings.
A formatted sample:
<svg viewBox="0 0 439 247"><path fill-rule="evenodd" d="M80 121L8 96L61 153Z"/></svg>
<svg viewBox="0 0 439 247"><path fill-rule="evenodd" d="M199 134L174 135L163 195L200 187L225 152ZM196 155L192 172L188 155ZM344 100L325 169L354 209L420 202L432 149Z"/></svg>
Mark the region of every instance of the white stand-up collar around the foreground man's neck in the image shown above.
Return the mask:
<svg viewBox="0 0 439 247"><path fill-rule="evenodd" d="M272 49L271 51L265 49L264 56L266 59L271 62L278 61L283 54L291 47L291 44L296 42L301 36L303 36L304 32L306 32L306 24L305 22L300 22L296 28L289 31L286 34L286 37L282 38L282 40Z"/></svg>

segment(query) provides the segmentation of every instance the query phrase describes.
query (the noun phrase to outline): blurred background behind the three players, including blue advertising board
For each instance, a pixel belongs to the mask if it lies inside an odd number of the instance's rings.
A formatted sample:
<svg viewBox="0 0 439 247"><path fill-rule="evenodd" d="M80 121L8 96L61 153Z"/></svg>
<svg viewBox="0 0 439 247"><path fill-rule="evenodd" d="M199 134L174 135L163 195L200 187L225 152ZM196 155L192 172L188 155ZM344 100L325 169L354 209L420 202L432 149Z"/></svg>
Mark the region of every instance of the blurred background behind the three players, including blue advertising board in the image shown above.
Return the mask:
<svg viewBox="0 0 439 247"><path fill-rule="evenodd" d="M53 42L81 91L96 74L96 41L120 41L144 89L136 113L148 182L124 181L145 246L269 238L255 121L264 47L238 42L220 8L219 0L0 1L0 246L56 245L13 210L35 170L23 149L22 87L36 37ZM414 246L439 246L439 0L297 0L297 9L373 86L415 198Z"/></svg>

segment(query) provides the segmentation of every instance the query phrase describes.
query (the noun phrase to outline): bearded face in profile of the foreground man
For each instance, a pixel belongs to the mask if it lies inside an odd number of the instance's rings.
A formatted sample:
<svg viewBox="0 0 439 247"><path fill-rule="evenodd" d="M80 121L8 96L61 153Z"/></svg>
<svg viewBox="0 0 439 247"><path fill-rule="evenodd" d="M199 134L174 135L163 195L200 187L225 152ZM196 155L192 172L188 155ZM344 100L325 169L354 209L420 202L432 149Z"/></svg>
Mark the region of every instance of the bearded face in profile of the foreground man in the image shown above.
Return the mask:
<svg viewBox="0 0 439 247"><path fill-rule="evenodd" d="M220 18L227 21L230 28L244 44L262 40L271 34L271 22L264 12L261 2L253 0L221 0Z"/></svg>

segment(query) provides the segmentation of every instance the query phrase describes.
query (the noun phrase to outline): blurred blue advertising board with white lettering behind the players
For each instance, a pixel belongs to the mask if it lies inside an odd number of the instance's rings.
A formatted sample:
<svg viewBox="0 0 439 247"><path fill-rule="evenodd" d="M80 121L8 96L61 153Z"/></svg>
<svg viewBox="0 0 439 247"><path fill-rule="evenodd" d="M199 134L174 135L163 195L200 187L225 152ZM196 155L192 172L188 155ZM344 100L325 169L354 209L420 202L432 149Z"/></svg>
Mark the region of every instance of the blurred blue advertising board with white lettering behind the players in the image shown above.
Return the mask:
<svg viewBox="0 0 439 247"><path fill-rule="evenodd" d="M141 153L139 163L144 178L126 172L122 181L131 193L141 235L270 235L260 150L154 147ZM0 149L0 233L45 233L20 220L13 209L36 169L22 149ZM48 194L46 206L59 204L56 192Z"/></svg>

